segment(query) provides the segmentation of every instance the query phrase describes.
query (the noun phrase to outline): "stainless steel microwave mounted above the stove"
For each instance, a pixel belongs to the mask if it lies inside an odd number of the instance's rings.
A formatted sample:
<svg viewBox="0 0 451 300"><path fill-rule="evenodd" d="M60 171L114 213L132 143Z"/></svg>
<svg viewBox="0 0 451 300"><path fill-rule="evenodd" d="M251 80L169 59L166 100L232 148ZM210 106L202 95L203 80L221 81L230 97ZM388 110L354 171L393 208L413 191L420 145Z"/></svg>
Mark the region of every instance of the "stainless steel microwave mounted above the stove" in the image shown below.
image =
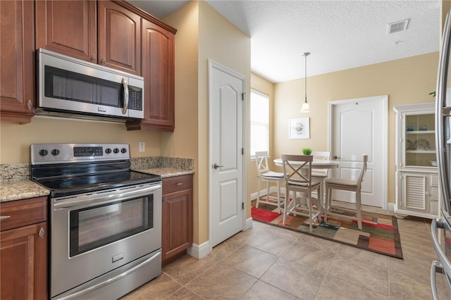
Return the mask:
<svg viewBox="0 0 451 300"><path fill-rule="evenodd" d="M144 118L143 77L46 49L36 58L38 114Z"/></svg>

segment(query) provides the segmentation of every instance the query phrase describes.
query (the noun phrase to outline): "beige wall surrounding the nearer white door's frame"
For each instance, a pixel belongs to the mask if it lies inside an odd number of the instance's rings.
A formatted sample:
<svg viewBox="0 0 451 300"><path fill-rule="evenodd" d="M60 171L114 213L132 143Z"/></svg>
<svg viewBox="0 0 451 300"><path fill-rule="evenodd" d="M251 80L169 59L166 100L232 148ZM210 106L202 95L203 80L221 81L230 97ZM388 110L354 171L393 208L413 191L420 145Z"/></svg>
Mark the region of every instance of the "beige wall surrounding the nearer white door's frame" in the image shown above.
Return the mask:
<svg viewBox="0 0 451 300"><path fill-rule="evenodd" d="M220 13L204 1L199 1L199 169L202 168L202 186L205 199L199 222L205 235L201 241L208 240L209 210L209 103L208 103L208 60L211 59L246 77L247 94L250 92L251 41L241 30L230 23ZM249 112L249 101L245 112ZM246 118L248 120L249 118ZM247 124L247 122L245 123ZM249 127L246 132L248 136ZM249 147L246 147L247 153ZM201 182L201 180L199 180ZM243 185L246 188L246 185ZM243 200L245 201L245 200ZM250 217L250 209L247 210Z"/></svg>

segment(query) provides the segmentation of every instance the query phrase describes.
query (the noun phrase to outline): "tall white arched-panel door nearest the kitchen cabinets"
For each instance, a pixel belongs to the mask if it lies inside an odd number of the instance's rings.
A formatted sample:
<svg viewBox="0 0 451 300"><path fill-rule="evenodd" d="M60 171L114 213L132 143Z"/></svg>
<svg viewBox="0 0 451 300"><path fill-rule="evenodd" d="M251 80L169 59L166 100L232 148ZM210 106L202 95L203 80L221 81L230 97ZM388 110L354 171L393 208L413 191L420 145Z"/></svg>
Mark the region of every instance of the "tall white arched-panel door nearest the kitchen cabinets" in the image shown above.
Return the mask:
<svg viewBox="0 0 451 300"><path fill-rule="evenodd" d="M210 244L243 228L245 77L209 61Z"/></svg>

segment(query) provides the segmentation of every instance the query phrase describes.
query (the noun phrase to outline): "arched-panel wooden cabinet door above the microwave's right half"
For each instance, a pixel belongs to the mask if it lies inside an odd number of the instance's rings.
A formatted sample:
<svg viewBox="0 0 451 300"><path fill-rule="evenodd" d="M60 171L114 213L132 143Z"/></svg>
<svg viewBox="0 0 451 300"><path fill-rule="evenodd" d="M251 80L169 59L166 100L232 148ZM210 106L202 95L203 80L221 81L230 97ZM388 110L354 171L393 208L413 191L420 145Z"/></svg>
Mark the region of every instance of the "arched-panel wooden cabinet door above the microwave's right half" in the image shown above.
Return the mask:
<svg viewBox="0 0 451 300"><path fill-rule="evenodd" d="M99 1L98 7L99 63L141 75L140 16L111 1Z"/></svg>

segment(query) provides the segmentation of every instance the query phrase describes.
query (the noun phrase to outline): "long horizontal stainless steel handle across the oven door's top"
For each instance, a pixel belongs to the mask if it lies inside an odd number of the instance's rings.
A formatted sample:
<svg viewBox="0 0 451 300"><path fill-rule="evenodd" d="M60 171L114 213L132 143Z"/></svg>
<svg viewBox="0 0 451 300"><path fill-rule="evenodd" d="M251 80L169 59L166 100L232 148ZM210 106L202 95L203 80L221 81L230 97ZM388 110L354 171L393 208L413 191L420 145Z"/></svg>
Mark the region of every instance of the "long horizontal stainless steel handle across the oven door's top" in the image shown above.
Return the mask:
<svg viewBox="0 0 451 300"><path fill-rule="evenodd" d="M161 189L161 185L152 185L152 187L145 187L144 189L122 192L120 194L117 194L117 193L109 194L109 195L89 194L89 195L77 196L76 198L71 198L68 200L56 201L53 206L54 206L54 208L70 208L70 207L82 206L82 205L87 205L87 204L109 204L111 202L115 202L118 200L139 197L139 196L146 196L149 193L155 192L159 189Z"/></svg>

